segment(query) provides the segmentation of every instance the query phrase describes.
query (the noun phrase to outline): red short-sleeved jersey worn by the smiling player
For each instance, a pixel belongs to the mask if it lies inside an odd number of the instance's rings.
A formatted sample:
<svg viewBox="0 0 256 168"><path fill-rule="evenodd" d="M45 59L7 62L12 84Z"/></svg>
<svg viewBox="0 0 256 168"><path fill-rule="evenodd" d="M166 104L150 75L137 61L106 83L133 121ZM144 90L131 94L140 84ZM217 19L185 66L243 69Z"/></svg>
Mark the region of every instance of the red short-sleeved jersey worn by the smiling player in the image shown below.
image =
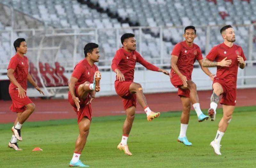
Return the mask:
<svg viewBox="0 0 256 168"><path fill-rule="evenodd" d="M177 67L184 76L191 76L196 60L203 60L202 52L198 45L189 46L186 41L182 41L173 47L172 54L178 56ZM171 68L171 75L174 70Z"/></svg>

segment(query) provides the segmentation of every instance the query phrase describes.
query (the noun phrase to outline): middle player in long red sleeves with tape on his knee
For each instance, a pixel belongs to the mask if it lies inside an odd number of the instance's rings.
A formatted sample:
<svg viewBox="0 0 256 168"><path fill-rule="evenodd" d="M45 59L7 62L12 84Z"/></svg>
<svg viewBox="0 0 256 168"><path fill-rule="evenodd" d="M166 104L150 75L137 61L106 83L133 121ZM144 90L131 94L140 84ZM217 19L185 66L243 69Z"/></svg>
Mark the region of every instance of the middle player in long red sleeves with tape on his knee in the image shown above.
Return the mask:
<svg viewBox="0 0 256 168"><path fill-rule="evenodd" d="M133 82L134 69L136 62L149 70L163 72L169 75L169 72L150 64L144 60L139 52L136 52L136 40L134 34L126 33L121 37L123 47L116 51L116 55L112 60L111 68L116 72L115 89L116 93L122 98L123 106L126 113L126 119L123 125L123 136L117 148L123 150L126 155L132 156L128 149L127 140L132 129L132 123L135 116L136 100L147 114L147 120L152 121L158 117L160 113L155 113L148 107L146 98L143 94L142 86Z"/></svg>

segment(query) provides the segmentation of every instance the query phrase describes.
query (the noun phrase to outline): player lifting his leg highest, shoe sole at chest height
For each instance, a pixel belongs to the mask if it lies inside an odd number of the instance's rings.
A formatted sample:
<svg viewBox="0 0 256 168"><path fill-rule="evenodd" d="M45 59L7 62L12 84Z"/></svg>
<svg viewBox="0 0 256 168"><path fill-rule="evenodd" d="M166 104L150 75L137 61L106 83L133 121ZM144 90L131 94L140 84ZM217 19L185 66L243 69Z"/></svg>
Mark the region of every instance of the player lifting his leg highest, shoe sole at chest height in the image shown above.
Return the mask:
<svg viewBox="0 0 256 168"><path fill-rule="evenodd" d="M69 167L89 167L79 158L86 144L92 121L91 102L95 93L100 91L101 74L94 64L99 62L99 45L88 43L84 46L85 58L78 62L68 83L68 101L77 115L79 134L76 139L75 151Z"/></svg>

